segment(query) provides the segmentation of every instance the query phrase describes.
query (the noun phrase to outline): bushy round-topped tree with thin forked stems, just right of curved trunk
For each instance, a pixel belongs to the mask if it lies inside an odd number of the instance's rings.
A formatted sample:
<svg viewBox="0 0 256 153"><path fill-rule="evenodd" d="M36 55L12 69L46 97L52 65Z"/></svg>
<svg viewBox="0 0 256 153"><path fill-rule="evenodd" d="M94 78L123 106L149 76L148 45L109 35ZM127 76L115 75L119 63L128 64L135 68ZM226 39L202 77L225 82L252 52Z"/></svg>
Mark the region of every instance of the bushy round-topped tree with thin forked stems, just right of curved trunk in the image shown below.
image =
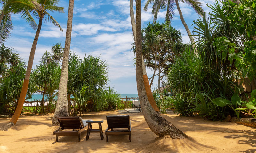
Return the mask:
<svg viewBox="0 0 256 153"><path fill-rule="evenodd" d="M153 76L149 78L151 80L150 87L153 84L154 77L158 76L158 90L160 90L160 81L166 75L164 72L166 72L174 60L176 53L174 47L176 44L181 43L181 33L168 22L148 23L147 27L142 31L142 48L145 66L154 71ZM132 46L132 51L135 55L135 45ZM158 71L157 74L156 71Z"/></svg>

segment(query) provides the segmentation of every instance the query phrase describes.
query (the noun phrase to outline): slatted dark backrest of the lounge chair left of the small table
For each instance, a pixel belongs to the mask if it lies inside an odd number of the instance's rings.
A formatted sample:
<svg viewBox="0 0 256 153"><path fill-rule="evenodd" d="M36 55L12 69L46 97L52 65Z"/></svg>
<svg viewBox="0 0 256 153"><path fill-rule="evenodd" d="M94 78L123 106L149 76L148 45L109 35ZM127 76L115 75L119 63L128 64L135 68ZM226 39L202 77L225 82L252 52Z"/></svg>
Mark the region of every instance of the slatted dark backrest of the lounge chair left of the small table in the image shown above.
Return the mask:
<svg viewBox="0 0 256 153"><path fill-rule="evenodd" d="M58 117L58 120L63 129L81 129L84 127L79 117Z"/></svg>

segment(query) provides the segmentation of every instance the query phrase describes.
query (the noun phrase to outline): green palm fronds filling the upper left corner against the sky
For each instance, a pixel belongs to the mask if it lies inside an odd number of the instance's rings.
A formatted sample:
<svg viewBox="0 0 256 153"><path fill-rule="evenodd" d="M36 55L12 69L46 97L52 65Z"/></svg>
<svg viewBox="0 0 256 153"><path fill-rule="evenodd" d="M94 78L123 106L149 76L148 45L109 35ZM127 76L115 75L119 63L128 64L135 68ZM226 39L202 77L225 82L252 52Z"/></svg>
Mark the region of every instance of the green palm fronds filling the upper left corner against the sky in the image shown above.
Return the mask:
<svg viewBox="0 0 256 153"><path fill-rule="evenodd" d="M59 23L48 13L48 11L58 11L63 13L63 7L56 6L59 0L0 0L2 10L0 10L0 43L3 43L10 36L13 24L11 13L21 14L21 17L29 23L31 28L36 30L38 25L33 17L45 18L62 31Z"/></svg>

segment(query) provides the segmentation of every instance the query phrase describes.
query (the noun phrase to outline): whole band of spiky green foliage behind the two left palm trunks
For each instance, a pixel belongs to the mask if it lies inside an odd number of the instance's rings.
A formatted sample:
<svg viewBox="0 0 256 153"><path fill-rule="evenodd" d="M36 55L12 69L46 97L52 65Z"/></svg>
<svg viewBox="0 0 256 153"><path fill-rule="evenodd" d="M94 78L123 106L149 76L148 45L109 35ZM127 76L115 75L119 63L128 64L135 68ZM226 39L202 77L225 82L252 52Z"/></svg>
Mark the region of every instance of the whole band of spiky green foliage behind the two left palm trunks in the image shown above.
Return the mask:
<svg viewBox="0 0 256 153"><path fill-rule="evenodd" d="M26 99L35 93L42 94L40 108L35 113L54 112L56 103L52 100L57 97L62 55L63 48L60 43L56 43L51 52L44 53L39 64L32 70ZM12 52L12 48L4 45L0 47L0 57L0 113L11 113L18 104L26 65L18 54ZM107 64L100 57L89 55L80 59L78 55L70 53L67 91L70 115L77 115L84 110L108 111L120 108L120 95L113 88L106 88L107 70ZM46 99L50 101L47 107L44 104Z"/></svg>

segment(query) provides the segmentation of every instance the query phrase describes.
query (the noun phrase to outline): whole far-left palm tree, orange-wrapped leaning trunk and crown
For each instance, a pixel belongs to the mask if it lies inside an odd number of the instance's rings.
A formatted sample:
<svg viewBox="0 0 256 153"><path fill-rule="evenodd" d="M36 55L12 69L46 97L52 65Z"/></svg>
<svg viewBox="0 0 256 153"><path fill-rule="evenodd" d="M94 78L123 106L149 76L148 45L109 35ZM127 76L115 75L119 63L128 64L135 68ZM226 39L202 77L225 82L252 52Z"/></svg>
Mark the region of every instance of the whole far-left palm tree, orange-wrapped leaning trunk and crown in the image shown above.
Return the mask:
<svg viewBox="0 0 256 153"><path fill-rule="evenodd" d="M33 14L33 16L35 16L36 18L39 18L39 23L38 23L36 35L35 35L35 38L34 38L34 41L33 41L32 47L31 47L29 60L28 60L28 66L27 66L27 70L26 70L25 80L24 80L24 83L23 83L23 86L21 89L19 103L18 103L17 109L15 110L14 115L12 116L12 119L9 122L10 126L16 124L18 118L20 117L20 113L21 113L21 110L22 110L22 107L23 107L23 104L24 104L24 101L26 98L29 77L30 77L32 66L33 66L36 45L37 45L39 33L41 31L43 19L45 18L45 22L48 20L54 26L59 27L60 30L62 31L60 24L47 12L47 10L49 10L52 12L57 11L57 12L63 13L64 8L56 6L56 4L59 2L59 0L37 0L37 1L32 0L31 2L34 4L34 6L33 6L33 9L30 10L30 12ZM9 5L12 5L12 4L9 4ZM7 5L7 6L9 6L9 5ZM27 11L27 14L24 15L24 17L27 19L27 21L31 21L31 20L34 21L33 17L30 15L30 12Z"/></svg>

